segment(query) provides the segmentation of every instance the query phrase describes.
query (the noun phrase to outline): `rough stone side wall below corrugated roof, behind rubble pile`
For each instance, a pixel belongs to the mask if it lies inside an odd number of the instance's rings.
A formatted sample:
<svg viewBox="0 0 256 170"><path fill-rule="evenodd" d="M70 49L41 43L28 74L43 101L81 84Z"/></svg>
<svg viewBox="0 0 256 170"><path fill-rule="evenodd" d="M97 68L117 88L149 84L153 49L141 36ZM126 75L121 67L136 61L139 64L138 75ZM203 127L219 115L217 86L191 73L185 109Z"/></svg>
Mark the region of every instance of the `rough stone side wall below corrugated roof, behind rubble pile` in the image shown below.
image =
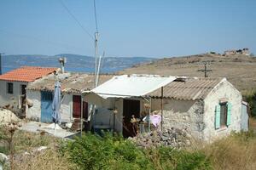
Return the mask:
<svg viewBox="0 0 256 170"><path fill-rule="evenodd" d="M160 115L160 99L152 99L152 111ZM163 131L178 128L188 131L197 139L202 139L203 101L163 100Z"/></svg>

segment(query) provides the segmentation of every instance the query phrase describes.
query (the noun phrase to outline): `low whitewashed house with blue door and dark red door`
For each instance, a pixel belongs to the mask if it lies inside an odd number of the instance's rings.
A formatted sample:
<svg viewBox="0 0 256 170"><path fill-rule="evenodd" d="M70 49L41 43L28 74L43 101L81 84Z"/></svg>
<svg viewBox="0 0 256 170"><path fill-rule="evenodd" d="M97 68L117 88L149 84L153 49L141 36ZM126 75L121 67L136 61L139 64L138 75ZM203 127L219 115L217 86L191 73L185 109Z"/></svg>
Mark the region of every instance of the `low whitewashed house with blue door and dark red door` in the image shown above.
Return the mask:
<svg viewBox="0 0 256 170"><path fill-rule="evenodd" d="M99 83L106 82L111 75L100 75ZM84 90L95 87L95 77L85 73L60 73L43 77L29 83L26 88L26 99L30 103L26 107L26 118L38 122L52 122L52 100L55 82L61 82L61 122L74 122L88 118L89 108L82 98Z"/></svg>

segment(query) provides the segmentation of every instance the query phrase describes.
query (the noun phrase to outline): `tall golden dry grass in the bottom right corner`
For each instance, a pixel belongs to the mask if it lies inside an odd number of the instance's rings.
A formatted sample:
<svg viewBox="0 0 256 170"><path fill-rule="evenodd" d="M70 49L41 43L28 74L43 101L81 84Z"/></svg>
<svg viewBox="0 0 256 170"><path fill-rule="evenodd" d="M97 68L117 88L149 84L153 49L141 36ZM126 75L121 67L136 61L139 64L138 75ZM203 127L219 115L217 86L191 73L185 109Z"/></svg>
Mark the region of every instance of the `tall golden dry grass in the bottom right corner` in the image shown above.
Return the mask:
<svg viewBox="0 0 256 170"><path fill-rule="evenodd" d="M234 134L209 144L202 150L214 169L256 169L256 137L250 134Z"/></svg>

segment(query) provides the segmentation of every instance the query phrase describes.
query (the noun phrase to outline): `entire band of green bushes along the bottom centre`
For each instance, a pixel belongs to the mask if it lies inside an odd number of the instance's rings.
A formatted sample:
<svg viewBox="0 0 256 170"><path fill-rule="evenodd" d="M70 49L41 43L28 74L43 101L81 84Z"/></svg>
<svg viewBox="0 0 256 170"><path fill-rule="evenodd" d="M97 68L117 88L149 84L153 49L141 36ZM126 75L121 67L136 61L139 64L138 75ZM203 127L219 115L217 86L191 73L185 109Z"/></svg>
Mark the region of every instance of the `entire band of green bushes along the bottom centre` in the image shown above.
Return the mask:
<svg viewBox="0 0 256 170"><path fill-rule="evenodd" d="M200 152L170 147L142 149L110 134L86 133L62 144L61 153L78 169L211 169L210 161Z"/></svg>

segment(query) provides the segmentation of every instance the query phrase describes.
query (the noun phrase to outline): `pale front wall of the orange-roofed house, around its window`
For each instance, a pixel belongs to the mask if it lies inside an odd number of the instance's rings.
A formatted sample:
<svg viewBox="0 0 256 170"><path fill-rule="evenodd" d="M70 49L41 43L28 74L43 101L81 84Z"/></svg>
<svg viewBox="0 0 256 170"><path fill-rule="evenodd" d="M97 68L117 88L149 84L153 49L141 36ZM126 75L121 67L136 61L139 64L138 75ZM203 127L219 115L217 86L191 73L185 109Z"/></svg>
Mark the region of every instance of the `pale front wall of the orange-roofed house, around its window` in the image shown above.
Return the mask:
<svg viewBox="0 0 256 170"><path fill-rule="evenodd" d="M13 105L14 111L19 110L20 101L19 96L21 95L21 85L27 85L27 82L12 82L14 84L14 94L7 93L8 81L0 80L0 106Z"/></svg>

